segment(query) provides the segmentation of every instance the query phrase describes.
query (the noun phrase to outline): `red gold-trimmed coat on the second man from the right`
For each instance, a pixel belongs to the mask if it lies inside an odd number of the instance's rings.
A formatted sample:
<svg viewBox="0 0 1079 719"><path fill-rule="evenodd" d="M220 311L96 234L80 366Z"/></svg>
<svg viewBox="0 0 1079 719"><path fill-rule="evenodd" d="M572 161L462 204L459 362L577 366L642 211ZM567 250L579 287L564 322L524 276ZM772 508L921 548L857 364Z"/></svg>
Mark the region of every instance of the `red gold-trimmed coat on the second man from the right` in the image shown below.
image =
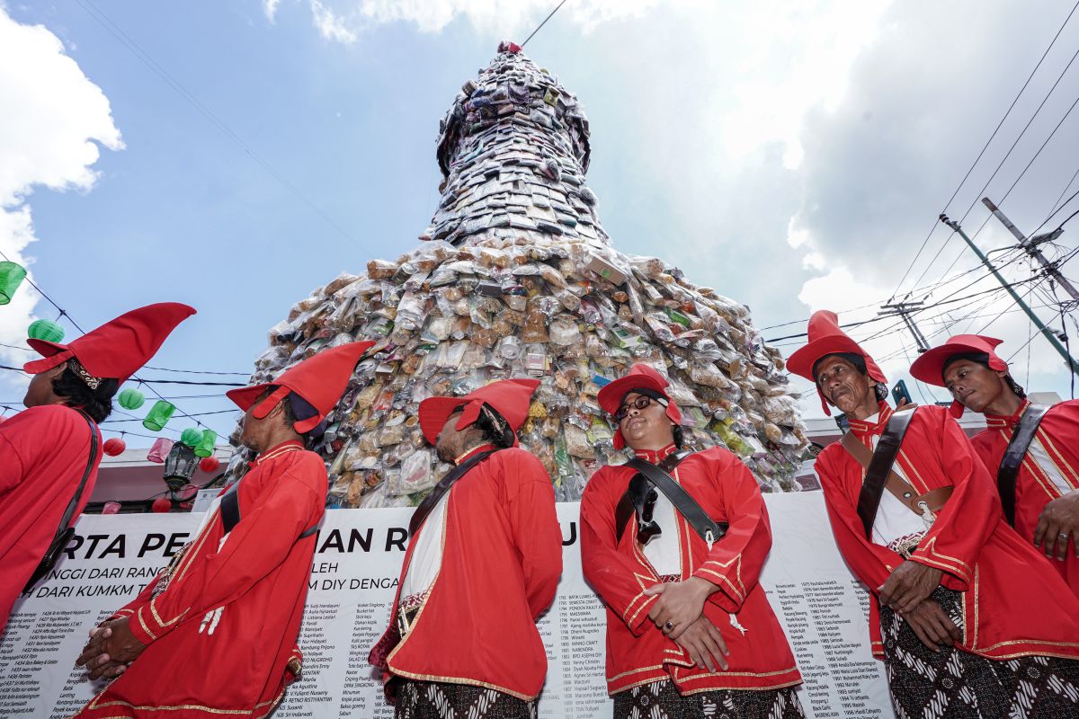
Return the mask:
<svg viewBox="0 0 1079 719"><path fill-rule="evenodd" d="M995 483L947 410L914 412L897 465L919 495L948 485L954 490L910 561L943 570L941 584L962 592L959 648L991 659L1079 659L1079 599L1003 521ZM882 403L877 424L852 420L850 430L870 446L891 415ZM870 590L873 653L882 658L877 589L904 559L865 538L857 511L865 471L842 444L824 448L817 473L839 552Z"/></svg>

